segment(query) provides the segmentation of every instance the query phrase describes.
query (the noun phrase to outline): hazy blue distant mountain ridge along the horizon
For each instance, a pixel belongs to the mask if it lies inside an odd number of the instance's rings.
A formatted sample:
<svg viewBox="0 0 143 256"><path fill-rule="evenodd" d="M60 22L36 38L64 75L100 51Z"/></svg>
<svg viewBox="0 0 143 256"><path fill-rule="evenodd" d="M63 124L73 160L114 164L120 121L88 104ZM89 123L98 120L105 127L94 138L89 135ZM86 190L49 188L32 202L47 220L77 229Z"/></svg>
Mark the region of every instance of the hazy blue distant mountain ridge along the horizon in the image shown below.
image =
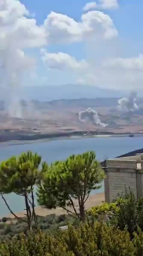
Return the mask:
<svg viewBox="0 0 143 256"><path fill-rule="evenodd" d="M120 98L129 94L128 90L101 89L97 86L67 84L55 86L24 86L19 88L19 99L52 101L77 98ZM143 92L140 95L143 95ZM0 100L7 97L7 91L1 89Z"/></svg>

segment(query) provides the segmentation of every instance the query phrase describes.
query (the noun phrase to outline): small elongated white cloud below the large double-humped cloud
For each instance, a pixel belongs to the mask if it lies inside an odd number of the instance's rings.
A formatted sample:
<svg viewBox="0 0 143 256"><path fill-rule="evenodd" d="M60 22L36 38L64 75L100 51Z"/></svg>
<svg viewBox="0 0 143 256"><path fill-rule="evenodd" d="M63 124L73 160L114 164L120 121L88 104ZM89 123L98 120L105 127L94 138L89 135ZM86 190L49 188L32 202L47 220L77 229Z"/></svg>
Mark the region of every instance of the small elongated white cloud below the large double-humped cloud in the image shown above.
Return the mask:
<svg viewBox="0 0 143 256"><path fill-rule="evenodd" d="M45 49L41 49L42 61L46 67L57 70L86 70L88 63L85 60L77 61L76 58L67 53L49 53Z"/></svg>

